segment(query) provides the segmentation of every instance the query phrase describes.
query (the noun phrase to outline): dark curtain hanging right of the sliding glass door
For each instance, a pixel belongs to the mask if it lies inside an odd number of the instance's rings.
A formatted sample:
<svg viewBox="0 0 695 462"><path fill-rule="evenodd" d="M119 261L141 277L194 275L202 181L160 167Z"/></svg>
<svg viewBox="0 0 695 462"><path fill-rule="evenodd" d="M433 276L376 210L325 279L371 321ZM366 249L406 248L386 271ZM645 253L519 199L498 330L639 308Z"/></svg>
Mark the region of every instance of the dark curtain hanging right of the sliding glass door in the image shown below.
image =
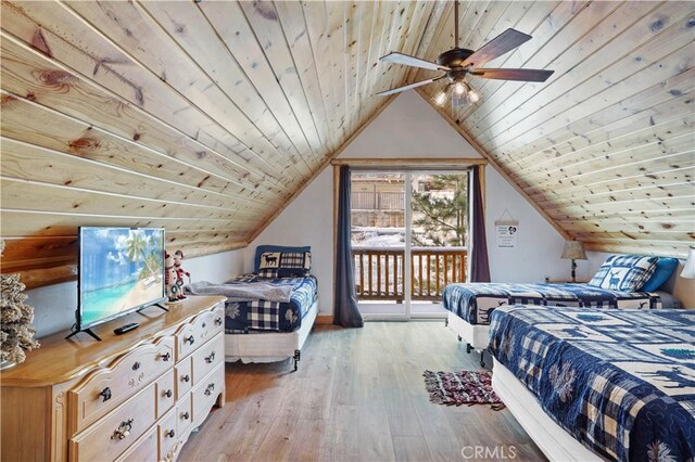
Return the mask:
<svg viewBox="0 0 695 462"><path fill-rule="evenodd" d="M480 169L477 165L470 170L469 192L471 201L471 243L470 282L490 282L490 262L488 261L488 239L485 238L485 217L482 207L482 191L480 188Z"/></svg>

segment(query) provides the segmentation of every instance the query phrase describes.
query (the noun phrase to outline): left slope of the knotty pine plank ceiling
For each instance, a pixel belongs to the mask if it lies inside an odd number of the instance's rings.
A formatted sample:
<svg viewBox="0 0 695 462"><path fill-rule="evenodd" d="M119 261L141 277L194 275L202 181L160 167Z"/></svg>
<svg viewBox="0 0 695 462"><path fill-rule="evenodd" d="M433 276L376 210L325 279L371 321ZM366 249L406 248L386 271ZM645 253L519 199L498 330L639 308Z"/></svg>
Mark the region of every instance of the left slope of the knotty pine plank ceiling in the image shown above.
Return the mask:
<svg viewBox="0 0 695 462"><path fill-rule="evenodd" d="M439 3L2 2L2 271L80 224L247 244L384 104ZM71 278L68 273L61 273ZM56 279L55 277L51 277Z"/></svg>

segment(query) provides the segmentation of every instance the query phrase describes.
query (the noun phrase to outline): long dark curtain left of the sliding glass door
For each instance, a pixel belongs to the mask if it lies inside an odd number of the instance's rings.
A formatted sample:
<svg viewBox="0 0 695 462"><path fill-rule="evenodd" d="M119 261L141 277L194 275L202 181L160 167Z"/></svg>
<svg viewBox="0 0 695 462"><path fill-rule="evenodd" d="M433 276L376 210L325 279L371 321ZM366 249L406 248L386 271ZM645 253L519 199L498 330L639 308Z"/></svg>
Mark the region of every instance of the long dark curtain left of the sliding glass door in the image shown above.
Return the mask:
<svg viewBox="0 0 695 462"><path fill-rule="evenodd" d="M338 185L338 249L336 252L336 294L333 324L362 328L364 321L357 308L355 271L350 242L350 168L340 167Z"/></svg>

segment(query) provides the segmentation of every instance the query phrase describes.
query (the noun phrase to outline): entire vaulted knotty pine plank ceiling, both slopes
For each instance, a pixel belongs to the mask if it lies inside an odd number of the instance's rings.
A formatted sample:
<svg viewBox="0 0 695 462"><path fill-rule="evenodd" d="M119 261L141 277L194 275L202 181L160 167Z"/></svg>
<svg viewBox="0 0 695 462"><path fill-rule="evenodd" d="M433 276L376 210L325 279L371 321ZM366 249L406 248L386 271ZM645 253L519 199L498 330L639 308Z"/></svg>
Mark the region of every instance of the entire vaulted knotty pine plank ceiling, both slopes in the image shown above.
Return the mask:
<svg viewBox="0 0 695 462"><path fill-rule="evenodd" d="M533 39L450 117L570 235L682 254L695 238L692 2L462 2L462 46ZM453 43L445 1L2 1L2 271L71 268L80 224L245 245ZM438 85L421 91L428 101ZM60 279L52 277L53 280Z"/></svg>

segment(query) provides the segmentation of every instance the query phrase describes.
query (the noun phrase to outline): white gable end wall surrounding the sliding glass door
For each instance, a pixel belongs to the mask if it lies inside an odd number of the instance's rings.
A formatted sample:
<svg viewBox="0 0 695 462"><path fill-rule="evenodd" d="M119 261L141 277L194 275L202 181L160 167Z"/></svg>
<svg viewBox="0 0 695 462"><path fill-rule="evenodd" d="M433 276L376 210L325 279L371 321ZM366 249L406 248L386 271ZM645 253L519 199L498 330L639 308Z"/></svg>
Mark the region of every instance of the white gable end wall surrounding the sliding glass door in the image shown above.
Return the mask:
<svg viewBox="0 0 695 462"><path fill-rule="evenodd" d="M400 95L341 154L355 157L480 157L417 93ZM560 260L564 240L492 167L486 168L486 235L491 278L496 282L542 282L569 277ZM313 272L319 280L319 306L332 313L333 175L327 168L294 200L247 251L251 269L261 244L311 245ZM495 248L494 221L506 209L519 220L518 246ZM579 275L583 274L582 262Z"/></svg>

